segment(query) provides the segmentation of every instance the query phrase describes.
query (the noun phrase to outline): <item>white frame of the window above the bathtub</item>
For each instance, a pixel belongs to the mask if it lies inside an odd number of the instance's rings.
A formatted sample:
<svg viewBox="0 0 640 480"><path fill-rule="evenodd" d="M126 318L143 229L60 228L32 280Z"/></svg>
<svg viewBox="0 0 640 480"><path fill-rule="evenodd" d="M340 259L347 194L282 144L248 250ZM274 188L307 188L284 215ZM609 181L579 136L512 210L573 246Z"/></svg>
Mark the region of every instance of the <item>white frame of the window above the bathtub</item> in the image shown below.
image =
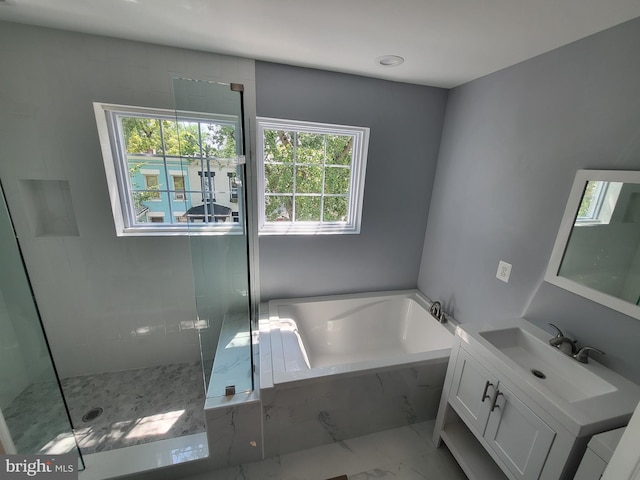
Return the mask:
<svg viewBox="0 0 640 480"><path fill-rule="evenodd" d="M359 234L369 148L369 128L257 117L259 235ZM265 202L264 131L286 130L353 137L347 220L344 222L268 222ZM283 192L284 193L284 192ZM292 192L293 194L293 192ZM324 194L321 194L324 195Z"/></svg>

